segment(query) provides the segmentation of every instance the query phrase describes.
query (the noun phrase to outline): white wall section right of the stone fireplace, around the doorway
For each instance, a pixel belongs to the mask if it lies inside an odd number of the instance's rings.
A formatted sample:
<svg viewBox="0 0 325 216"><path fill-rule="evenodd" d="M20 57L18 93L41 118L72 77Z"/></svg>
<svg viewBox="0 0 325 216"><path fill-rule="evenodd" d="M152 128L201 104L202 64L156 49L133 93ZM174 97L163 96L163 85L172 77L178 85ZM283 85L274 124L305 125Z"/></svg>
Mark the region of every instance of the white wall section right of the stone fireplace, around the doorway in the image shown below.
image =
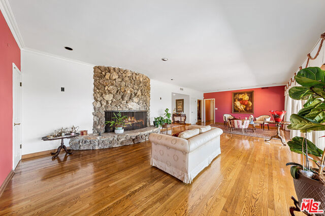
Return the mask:
<svg viewBox="0 0 325 216"><path fill-rule="evenodd" d="M203 92L183 88L178 85L161 82L155 79L150 80L150 123L153 124L154 117L164 115L166 108L172 110L172 93L188 95L189 98L203 100ZM185 107L184 107L185 108ZM189 107L190 110L190 107ZM186 115L186 122L191 122L190 115Z"/></svg>

